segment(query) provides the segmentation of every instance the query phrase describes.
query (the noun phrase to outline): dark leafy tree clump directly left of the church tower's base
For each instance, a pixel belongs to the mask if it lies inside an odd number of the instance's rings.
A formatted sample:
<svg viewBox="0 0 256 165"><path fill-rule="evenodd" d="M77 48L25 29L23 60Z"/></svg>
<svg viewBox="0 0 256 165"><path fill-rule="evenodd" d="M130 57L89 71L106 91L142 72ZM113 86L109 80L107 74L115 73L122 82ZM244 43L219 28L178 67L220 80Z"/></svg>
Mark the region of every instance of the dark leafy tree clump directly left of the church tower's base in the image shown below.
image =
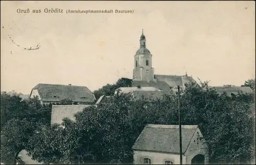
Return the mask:
<svg viewBox="0 0 256 165"><path fill-rule="evenodd" d="M115 84L106 84L102 88L95 90L93 93L95 95L96 100L100 98L100 96L112 96L117 88L120 87L131 87L132 86L132 79L121 78L118 79Z"/></svg>

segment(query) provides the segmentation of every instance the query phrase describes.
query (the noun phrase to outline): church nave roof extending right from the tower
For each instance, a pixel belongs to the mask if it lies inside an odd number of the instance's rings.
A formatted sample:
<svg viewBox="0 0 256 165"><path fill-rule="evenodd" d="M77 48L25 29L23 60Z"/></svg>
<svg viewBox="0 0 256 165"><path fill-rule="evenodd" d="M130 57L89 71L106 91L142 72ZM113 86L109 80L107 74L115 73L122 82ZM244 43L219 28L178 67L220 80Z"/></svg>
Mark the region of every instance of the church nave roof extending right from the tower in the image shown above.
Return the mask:
<svg viewBox="0 0 256 165"><path fill-rule="evenodd" d="M170 87L177 85L185 87L185 84L188 84L190 81L196 82L193 77L189 76L154 75L154 77L157 79L157 81L166 82Z"/></svg>

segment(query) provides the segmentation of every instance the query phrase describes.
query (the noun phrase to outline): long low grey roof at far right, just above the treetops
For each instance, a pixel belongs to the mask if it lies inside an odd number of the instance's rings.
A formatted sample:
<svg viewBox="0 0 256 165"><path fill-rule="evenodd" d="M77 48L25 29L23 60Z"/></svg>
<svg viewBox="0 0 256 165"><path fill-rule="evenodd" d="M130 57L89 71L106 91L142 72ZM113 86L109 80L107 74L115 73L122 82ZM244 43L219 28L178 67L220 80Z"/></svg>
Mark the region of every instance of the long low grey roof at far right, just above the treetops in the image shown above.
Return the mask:
<svg viewBox="0 0 256 165"><path fill-rule="evenodd" d="M248 86L212 86L210 88L215 88L217 93L222 94L224 91L227 95L231 96L231 93L237 95L238 92L250 93L253 90Z"/></svg>

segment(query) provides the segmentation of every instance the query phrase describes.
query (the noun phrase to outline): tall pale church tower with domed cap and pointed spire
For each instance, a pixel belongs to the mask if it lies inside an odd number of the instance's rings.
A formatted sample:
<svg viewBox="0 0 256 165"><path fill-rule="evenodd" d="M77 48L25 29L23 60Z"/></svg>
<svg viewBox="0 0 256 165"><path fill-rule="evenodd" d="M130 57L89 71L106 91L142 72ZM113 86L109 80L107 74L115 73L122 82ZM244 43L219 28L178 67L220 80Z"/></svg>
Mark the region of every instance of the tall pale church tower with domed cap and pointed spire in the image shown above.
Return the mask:
<svg viewBox="0 0 256 165"><path fill-rule="evenodd" d="M146 49L146 37L143 34L140 36L140 49L134 56L134 81L153 81L154 68L152 68L152 54Z"/></svg>

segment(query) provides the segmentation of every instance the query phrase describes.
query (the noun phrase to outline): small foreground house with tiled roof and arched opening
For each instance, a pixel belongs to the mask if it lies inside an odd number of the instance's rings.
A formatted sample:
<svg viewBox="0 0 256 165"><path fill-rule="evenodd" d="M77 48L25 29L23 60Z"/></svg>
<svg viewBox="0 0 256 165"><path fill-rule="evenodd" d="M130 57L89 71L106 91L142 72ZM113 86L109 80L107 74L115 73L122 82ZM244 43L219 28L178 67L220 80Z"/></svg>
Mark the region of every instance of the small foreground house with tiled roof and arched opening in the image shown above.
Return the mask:
<svg viewBox="0 0 256 165"><path fill-rule="evenodd" d="M182 163L208 164L205 139L197 125L182 125ZM179 125L147 124L134 146L134 164L180 164Z"/></svg>

